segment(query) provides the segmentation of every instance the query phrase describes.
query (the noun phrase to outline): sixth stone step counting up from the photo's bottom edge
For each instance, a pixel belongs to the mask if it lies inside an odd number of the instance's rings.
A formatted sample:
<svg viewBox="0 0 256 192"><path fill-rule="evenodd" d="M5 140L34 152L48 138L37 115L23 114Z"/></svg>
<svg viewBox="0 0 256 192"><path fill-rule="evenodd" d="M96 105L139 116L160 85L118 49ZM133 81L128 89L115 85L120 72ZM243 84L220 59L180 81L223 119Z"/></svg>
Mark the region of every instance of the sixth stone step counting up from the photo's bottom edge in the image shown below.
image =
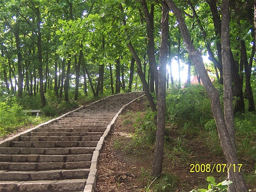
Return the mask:
<svg viewBox="0 0 256 192"><path fill-rule="evenodd" d="M98 141L14 141L10 147L96 147Z"/></svg>

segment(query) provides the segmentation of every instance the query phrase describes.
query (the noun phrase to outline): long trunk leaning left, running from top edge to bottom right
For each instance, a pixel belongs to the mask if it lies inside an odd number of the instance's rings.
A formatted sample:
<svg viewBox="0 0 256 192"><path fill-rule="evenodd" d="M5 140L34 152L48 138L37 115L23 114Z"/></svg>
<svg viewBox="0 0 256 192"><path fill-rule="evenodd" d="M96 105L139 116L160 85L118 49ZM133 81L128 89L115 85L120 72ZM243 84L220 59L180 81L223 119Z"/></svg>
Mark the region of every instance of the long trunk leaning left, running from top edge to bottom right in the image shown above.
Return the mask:
<svg viewBox="0 0 256 192"><path fill-rule="evenodd" d="M169 6L169 8L173 10L177 18L177 21L179 22L180 30L186 45L186 49L190 55L191 60L193 61L194 65L196 66L199 72L199 75L203 81L205 90L210 98L212 114L214 115L214 118L216 121L217 129L218 129L218 133L221 141L221 147L222 147L224 156L227 160L227 163L229 165L236 164L236 166L238 166L239 161L237 158L236 150L234 149L233 143L231 141L232 138L229 135L229 132L227 130L227 125L226 125L225 118L221 108L219 92L213 86L209 76L207 75L207 72L204 68L204 63L203 63L203 58L201 53L197 51L195 46L193 45L193 42L190 38L189 32L185 24L185 20L182 16L181 10L175 5L175 3L172 0L165 0L165 2ZM237 171L234 172L233 166L230 166L230 172L233 178L234 185L236 187L236 191L237 192L248 191L242 172L237 172Z"/></svg>

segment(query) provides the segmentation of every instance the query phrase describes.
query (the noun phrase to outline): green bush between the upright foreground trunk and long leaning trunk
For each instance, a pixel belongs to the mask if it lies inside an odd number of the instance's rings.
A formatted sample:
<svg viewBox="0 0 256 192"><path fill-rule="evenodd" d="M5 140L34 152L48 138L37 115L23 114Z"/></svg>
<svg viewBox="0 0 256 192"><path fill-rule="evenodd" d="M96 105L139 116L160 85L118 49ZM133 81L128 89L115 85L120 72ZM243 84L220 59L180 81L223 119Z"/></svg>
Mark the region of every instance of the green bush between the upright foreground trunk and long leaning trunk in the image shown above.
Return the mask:
<svg viewBox="0 0 256 192"><path fill-rule="evenodd" d="M203 86L172 89L166 96L166 115L177 126L202 125L212 118L210 100Z"/></svg>

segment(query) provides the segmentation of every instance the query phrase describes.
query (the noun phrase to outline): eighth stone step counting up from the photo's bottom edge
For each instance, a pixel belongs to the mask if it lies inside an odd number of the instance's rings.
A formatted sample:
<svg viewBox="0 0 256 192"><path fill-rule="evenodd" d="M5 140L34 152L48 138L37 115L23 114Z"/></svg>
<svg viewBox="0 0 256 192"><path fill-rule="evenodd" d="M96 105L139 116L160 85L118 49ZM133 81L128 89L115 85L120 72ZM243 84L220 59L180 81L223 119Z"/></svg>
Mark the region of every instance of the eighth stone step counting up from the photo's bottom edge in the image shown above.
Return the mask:
<svg viewBox="0 0 256 192"><path fill-rule="evenodd" d="M65 137L65 136L90 136L90 135L99 135L102 136L104 132L30 132L30 136L37 136L37 137Z"/></svg>

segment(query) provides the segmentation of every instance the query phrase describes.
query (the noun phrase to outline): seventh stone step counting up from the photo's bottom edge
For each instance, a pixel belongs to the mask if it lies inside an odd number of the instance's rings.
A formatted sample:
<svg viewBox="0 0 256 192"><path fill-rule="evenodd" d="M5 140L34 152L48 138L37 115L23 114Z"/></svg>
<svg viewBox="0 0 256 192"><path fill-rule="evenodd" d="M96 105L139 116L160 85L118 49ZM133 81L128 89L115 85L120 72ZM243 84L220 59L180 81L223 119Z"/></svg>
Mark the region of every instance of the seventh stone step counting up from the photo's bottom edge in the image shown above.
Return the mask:
<svg viewBox="0 0 256 192"><path fill-rule="evenodd" d="M100 135L90 136L22 136L19 141L98 141Z"/></svg>

